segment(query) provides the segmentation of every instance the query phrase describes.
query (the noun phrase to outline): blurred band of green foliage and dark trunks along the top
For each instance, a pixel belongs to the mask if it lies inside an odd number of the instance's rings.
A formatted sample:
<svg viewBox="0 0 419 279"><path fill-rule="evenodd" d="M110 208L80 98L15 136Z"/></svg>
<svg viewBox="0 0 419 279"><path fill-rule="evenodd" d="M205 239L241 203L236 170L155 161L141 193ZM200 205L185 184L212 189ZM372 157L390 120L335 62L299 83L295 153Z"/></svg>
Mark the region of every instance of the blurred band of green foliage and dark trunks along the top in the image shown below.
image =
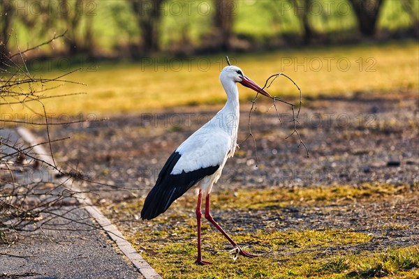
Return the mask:
<svg viewBox="0 0 419 279"><path fill-rule="evenodd" d="M17 51L15 36L41 43L67 31L64 41L31 52L38 57L135 60L419 34L417 0L2 0L0 9L3 53Z"/></svg>

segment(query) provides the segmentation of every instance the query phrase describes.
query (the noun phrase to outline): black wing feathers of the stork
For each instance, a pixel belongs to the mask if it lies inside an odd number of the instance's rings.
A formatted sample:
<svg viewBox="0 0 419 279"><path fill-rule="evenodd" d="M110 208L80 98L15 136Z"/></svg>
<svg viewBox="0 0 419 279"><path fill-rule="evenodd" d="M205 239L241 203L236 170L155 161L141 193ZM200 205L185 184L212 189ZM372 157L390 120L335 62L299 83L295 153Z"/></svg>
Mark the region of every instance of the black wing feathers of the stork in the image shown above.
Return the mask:
<svg viewBox="0 0 419 279"><path fill-rule="evenodd" d="M163 169L161 169L156 185L145 198L144 206L141 211L141 218L143 220L150 220L159 216L166 211L170 204L175 202L178 197L186 193L187 190L205 176L214 174L220 167L219 165L216 165L212 167L203 167L191 172L183 171L180 174L170 174L180 157L181 155L178 152L173 152L163 166Z"/></svg>

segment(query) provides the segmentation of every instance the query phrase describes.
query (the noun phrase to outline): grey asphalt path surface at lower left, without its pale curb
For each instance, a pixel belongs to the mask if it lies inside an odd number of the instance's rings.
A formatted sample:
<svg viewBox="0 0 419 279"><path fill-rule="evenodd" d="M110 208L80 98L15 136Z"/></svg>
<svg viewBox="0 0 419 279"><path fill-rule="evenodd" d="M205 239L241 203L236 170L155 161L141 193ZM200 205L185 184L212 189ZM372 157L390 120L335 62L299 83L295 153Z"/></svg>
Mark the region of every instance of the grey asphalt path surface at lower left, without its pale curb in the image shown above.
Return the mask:
<svg viewBox="0 0 419 279"><path fill-rule="evenodd" d="M20 140L15 130L10 129L1 129L0 137L13 144ZM2 145L3 156L13 152ZM27 179L26 174L36 173L42 176L44 185L59 184L46 167L36 172L16 167L13 172L15 179L21 181ZM3 190L8 187L4 181L5 176L0 184ZM54 191L57 193L59 188ZM36 204L44 198L46 195L31 196L27 204ZM143 278L74 198L64 199L22 229L35 227L42 229L4 232L7 242L0 243L0 278Z"/></svg>

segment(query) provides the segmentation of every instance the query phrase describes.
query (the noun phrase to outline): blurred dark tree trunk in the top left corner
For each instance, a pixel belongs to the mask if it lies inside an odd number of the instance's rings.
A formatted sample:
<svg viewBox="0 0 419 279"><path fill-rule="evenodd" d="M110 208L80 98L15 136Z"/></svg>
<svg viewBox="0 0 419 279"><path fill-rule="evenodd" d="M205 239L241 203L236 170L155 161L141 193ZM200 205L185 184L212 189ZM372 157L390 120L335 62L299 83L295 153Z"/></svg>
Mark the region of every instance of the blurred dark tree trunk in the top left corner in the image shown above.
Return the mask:
<svg viewBox="0 0 419 279"><path fill-rule="evenodd" d="M0 66L6 62L9 56L8 39L10 27L13 21L13 5L8 1L0 3Z"/></svg>

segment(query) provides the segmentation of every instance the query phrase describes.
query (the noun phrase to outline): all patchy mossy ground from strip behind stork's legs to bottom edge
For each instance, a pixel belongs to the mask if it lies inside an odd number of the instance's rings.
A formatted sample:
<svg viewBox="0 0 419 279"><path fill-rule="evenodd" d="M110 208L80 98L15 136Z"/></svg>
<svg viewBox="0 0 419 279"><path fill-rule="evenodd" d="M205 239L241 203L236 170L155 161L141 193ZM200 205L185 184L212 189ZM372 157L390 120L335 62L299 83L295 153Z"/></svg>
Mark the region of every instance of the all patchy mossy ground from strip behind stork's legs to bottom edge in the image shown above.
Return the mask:
<svg viewBox="0 0 419 279"><path fill-rule="evenodd" d="M260 219L289 206L359 206L395 197L415 195L417 186L362 184L323 188L242 189L212 194L214 218L236 218L257 211ZM372 243L377 232L362 228L295 229L260 226L244 230L240 222L229 222L227 230L245 250L260 255L233 260L230 244L203 219L203 257L210 266L194 264L196 220L193 193L181 197L158 218L138 220L143 199L104 204L136 250L163 278L417 278L419 246L379 247ZM237 212L235 210L240 210ZM240 216L246 217L246 216ZM257 220L256 220L257 222ZM309 220L304 220L309 222ZM220 225L223 224L220 222ZM391 228L390 228L391 227ZM407 227L394 223L381 229L403 232ZM371 245L370 245L371 244ZM375 248L374 248L375 247Z"/></svg>

